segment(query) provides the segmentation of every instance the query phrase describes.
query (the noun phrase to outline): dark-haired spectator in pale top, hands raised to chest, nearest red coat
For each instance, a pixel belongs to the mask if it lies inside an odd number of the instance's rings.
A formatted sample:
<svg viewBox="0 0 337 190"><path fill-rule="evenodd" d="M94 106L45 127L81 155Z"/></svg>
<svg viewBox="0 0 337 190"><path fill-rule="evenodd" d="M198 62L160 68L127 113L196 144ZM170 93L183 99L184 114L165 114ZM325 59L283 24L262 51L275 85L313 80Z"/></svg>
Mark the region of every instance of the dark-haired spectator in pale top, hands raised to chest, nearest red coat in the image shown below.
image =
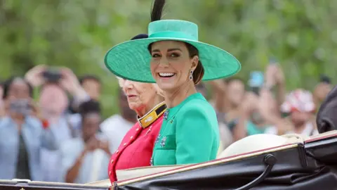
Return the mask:
<svg viewBox="0 0 337 190"><path fill-rule="evenodd" d="M107 179L111 152L107 138L98 132L100 104L94 100L86 101L79 106L79 114L81 136L65 141L60 147L62 181L84 184Z"/></svg>

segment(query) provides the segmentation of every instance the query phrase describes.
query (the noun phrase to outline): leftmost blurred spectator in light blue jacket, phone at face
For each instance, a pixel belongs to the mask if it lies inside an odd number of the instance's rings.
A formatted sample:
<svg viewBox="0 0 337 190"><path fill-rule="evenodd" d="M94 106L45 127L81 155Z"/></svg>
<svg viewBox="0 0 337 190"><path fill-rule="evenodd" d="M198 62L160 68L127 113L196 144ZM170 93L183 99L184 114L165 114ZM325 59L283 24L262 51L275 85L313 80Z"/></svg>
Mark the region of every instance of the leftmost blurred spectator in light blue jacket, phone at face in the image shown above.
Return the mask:
<svg viewBox="0 0 337 190"><path fill-rule="evenodd" d="M0 118L0 179L41 180L41 147L57 149L53 129L41 122L33 88L12 77L4 82L5 114Z"/></svg>

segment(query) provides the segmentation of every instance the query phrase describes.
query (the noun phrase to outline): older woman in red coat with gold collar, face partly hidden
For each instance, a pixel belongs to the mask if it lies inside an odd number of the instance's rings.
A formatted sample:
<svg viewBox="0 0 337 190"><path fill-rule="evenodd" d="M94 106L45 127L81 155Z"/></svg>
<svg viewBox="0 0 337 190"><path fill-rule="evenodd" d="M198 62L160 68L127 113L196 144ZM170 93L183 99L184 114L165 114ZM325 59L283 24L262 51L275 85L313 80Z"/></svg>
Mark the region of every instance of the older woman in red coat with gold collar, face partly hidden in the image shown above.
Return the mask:
<svg viewBox="0 0 337 190"><path fill-rule="evenodd" d="M133 39L146 38L139 34ZM128 106L138 115L138 122L126 133L109 165L110 181L117 180L116 170L150 166L150 158L157 139L166 105L157 84L123 80L119 85L128 98Z"/></svg>

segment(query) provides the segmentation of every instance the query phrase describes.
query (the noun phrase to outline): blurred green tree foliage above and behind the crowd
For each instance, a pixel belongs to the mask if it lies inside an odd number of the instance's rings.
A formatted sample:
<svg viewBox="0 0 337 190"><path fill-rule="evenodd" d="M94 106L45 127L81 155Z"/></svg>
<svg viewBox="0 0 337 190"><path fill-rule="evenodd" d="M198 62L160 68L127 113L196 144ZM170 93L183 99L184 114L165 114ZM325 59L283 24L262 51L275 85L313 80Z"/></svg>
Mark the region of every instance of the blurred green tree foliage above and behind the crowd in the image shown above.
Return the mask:
<svg viewBox="0 0 337 190"><path fill-rule="evenodd" d="M238 76L264 70L275 56L287 89L312 89L324 73L336 76L337 1L167 0L164 19L199 25L202 42L242 63ZM0 78L34 65L64 65L104 82L105 116L116 113L114 75L103 56L115 44L147 32L151 0L0 0ZM333 81L335 81L333 79Z"/></svg>

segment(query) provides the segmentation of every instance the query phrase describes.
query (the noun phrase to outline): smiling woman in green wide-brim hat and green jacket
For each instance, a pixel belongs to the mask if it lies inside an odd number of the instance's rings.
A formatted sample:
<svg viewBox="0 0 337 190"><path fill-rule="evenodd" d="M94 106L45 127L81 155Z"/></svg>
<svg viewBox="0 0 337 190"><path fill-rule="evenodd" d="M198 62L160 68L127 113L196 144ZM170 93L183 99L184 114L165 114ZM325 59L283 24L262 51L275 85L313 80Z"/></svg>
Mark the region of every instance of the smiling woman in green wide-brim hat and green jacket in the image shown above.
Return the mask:
<svg viewBox="0 0 337 190"><path fill-rule="evenodd" d="M216 158L219 129L216 112L195 85L239 72L234 56L198 41L198 27L185 20L160 20L164 0L154 1L149 37L118 44L105 55L115 75L157 82L164 91L164 121L154 144L152 165L201 163Z"/></svg>

